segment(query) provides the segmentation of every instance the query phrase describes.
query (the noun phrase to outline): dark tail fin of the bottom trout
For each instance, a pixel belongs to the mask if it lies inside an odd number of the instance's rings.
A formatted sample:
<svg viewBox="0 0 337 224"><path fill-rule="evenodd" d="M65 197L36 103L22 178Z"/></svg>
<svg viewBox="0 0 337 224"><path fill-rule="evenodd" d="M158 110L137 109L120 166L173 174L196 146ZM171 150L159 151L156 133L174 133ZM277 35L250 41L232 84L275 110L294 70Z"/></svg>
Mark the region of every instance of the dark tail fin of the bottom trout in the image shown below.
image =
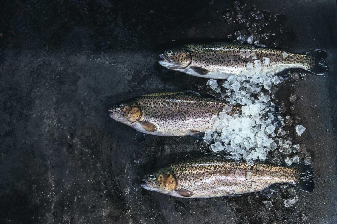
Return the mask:
<svg viewBox="0 0 337 224"><path fill-rule="evenodd" d="M304 163L296 163L290 166L297 175L295 186L305 192L312 192L314 189L314 181L312 180L312 166Z"/></svg>

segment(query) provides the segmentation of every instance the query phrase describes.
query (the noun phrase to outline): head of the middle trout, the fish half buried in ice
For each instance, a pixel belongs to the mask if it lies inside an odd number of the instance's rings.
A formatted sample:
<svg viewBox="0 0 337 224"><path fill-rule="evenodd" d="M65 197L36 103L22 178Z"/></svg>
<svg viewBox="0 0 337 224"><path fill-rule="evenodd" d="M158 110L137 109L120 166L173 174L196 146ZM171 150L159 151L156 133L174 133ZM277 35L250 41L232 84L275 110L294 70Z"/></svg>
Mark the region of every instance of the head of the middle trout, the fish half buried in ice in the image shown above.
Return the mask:
<svg viewBox="0 0 337 224"><path fill-rule="evenodd" d="M119 102L109 109L109 116L124 124L133 124L142 117L141 108L135 102Z"/></svg>

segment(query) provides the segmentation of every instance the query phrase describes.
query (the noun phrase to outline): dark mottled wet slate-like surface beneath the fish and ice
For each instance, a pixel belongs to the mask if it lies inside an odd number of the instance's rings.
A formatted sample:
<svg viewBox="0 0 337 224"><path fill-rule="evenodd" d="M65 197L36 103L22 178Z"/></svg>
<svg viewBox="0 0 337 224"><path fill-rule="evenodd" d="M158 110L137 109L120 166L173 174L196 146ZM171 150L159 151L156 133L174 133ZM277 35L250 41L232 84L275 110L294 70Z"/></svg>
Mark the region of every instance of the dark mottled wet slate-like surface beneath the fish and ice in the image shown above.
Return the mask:
<svg viewBox="0 0 337 224"><path fill-rule="evenodd" d="M167 42L227 38L233 1L2 1L1 223L336 223L336 2L254 1L284 14L285 50L328 51L328 76L286 81L313 157L315 190L285 208L266 196L179 199L140 188L145 170L201 154L191 137L146 136L111 102L161 91L207 93L207 79L157 64ZM283 35L283 34L282 34ZM282 36L281 35L281 36ZM283 36L282 36L283 37Z"/></svg>

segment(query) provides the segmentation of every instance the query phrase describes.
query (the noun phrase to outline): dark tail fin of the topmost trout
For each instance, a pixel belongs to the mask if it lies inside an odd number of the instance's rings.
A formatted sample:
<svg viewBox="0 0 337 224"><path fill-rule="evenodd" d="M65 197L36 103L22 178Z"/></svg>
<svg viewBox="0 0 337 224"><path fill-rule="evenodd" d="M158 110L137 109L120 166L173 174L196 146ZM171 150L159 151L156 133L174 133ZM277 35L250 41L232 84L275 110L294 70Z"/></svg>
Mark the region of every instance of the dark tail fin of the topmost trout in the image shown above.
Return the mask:
<svg viewBox="0 0 337 224"><path fill-rule="evenodd" d="M310 71L316 75L327 75L328 66L326 64L327 52L325 50L316 49L307 52L306 55L309 58Z"/></svg>

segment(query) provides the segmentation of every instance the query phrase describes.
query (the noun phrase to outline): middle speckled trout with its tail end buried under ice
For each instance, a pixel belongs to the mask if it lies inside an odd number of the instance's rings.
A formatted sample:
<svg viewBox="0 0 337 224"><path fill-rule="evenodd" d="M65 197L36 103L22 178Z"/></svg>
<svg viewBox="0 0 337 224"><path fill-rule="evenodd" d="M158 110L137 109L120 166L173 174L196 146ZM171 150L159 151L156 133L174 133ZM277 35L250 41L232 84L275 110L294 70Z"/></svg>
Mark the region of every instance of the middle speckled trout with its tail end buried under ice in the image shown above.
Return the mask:
<svg viewBox="0 0 337 224"><path fill-rule="evenodd" d="M196 93L164 92L135 97L118 103L110 117L140 132L159 136L184 136L212 129L210 118L228 106L223 101ZM119 109L119 110L117 110ZM228 114L240 113L233 107Z"/></svg>

